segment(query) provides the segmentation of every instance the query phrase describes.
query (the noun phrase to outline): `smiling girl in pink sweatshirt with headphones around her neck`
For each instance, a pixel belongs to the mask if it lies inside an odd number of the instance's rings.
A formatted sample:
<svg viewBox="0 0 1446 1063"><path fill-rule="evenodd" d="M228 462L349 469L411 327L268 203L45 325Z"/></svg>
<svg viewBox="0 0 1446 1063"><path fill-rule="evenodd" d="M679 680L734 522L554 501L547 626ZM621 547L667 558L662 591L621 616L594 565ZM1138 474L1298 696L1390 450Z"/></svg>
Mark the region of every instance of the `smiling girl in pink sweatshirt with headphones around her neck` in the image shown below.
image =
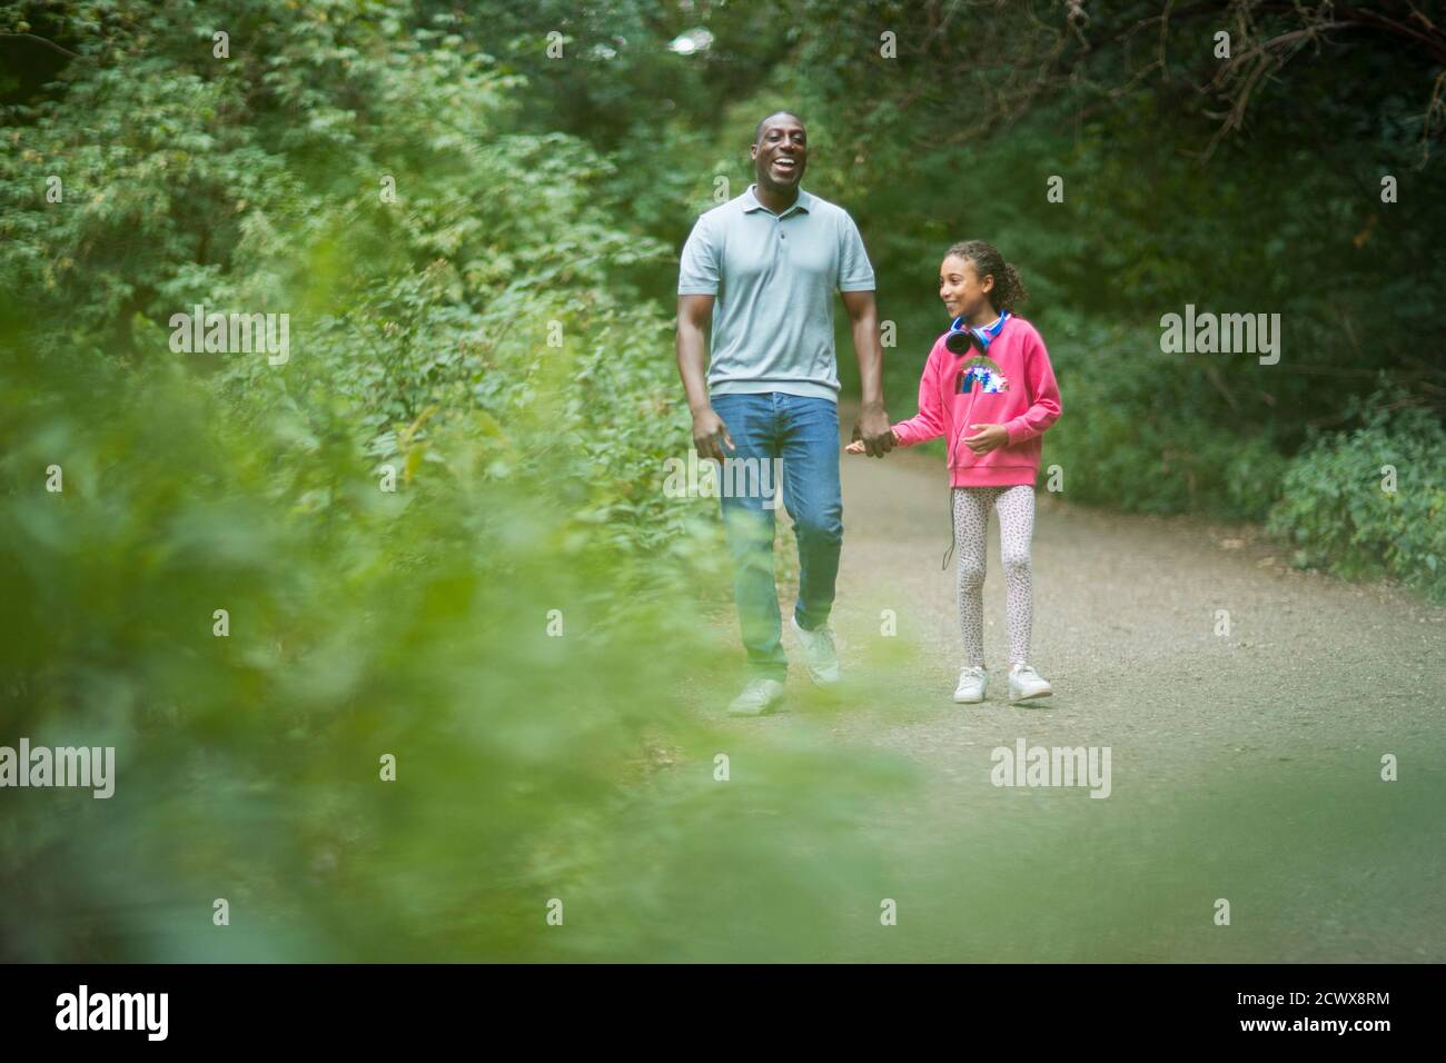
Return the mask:
<svg viewBox="0 0 1446 1063"><path fill-rule="evenodd" d="M1040 437L1060 417L1060 390L1044 341L1014 309L1027 298L1019 272L982 240L956 243L938 270L938 295L954 318L934 341L918 385L918 415L894 425L899 447L949 440L954 547L959 551L959 626L966 664L954 701L983 701L985 534L999 513L1009 619L1009 700L1047 697L1050 684L1030 665L1034 622L1030 539ZM863 444L846 448L862 454Z"/></svg>

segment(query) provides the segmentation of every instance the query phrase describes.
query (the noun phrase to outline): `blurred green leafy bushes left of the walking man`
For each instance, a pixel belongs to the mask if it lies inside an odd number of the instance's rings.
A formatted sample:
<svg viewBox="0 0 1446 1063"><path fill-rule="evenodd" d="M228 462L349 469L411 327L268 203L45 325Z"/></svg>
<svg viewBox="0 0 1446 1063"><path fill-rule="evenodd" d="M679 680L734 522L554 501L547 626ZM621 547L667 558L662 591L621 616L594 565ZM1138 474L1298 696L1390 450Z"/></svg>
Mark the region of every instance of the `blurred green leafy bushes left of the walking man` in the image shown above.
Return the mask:
<svg viewBox="0 0 1446 1063"><path fill-rule="evenodd" d="M661 490L687 411L625 273L669 255L613 165L451 14L40 14L82 54L0 130L0 719L119 784L6 791L3 955L662 957L643 914L717 887L727 949L827 939L771 887L878 866L850 824L901 778L759 743L794 808L761 832L784 794L719 787L680 709L724 554ZM195 304L289 314L289 360L174 353ZM552 897L593 930L545 937Z"/></svg>

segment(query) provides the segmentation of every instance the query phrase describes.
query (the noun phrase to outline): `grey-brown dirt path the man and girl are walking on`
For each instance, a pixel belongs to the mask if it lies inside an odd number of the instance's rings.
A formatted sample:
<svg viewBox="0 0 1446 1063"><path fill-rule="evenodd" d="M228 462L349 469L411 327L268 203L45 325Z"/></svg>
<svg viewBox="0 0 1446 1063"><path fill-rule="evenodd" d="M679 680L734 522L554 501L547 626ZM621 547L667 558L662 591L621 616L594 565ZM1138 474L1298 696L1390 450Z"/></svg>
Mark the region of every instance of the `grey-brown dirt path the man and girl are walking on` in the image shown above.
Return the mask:
<svg viewBox="0 0 1446 1063"><path fill-rule="evenodd" d="M833 623L850 680L834 697L814 693L785 636L794 712L727 726L905 759L923 800L881 807L862 829L915 846L901 882L949 892L956 875L973 910L991 913L988 927L941 913L899 952L869 946L859 957L1446 959L1446 609L1294 571L1249 528L1108 513L1040 492L1034 662L1056 694L1031 707L1001 697L991 519L991 693L983 706L954 706L943 460L895 451L843 463ZM791 548L791 535L779 544ZM781 592L791 603L794 587ZM1229 635L1216 633L1220 609ZM897 636L881 633L884 610ZM1038 790L993 785L992 751L1021 738L1109 746L1109 800L1041 801ZM1385 754L1400 761L1397 782L1379 778ZM957 868L940 865L940 846ZM1236 905L1229 928L1212 921L1220 897ZM1041 913L1054 921L1041 924Z"/></svg>

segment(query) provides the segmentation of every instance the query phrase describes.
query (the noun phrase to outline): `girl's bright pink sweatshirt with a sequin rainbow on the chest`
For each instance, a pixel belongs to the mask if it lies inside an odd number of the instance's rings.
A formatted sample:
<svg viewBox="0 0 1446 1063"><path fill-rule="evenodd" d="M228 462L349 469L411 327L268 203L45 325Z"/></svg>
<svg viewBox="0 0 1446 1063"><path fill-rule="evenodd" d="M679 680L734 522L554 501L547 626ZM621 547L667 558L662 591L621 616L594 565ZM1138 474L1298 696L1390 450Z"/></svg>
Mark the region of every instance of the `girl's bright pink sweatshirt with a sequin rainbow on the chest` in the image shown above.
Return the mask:
<svg viewBox="0 0 1446 1063"><path fill-rule="evenodd" d="M947 336L934 341L924 363L918 414L894 425L894 438L901 447L912 447L946 437L956 487L1032 487L1040 473L1040 437L1060 417L1060 389L1044 340L1014 314L988 354L953 354L944 346ZM960 390L962 385L967 390ZM975 454L962 443L977 431L972 424L1002 424L1009 443Z"/></svg>

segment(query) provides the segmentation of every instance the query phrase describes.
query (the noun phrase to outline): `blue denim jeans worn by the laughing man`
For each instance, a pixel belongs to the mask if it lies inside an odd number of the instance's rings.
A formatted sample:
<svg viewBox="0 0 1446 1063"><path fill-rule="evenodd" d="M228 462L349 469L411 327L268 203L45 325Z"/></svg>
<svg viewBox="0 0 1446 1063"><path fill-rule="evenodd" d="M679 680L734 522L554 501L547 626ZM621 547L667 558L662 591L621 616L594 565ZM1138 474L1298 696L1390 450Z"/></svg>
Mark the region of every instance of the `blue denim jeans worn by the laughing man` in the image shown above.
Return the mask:
<svg viewBox="0 0 1446 1063"><path fill-rule="evenodd" d="M778 587L774 584L774 509L779 484L774 458L782 458L784 506L798 538L798 626L829 620L839 550L843 545L843 492L839 486L839 406L829 399L766 392L716 395L713 409L736 450L750 458L720 477L723 528L733 557L733 597L749 667L782 681L784 655ZM766 469L766 473L762 470ZM742 490L730 490L739 487ZM758 487L771 487L758 490Z"/></svg>

